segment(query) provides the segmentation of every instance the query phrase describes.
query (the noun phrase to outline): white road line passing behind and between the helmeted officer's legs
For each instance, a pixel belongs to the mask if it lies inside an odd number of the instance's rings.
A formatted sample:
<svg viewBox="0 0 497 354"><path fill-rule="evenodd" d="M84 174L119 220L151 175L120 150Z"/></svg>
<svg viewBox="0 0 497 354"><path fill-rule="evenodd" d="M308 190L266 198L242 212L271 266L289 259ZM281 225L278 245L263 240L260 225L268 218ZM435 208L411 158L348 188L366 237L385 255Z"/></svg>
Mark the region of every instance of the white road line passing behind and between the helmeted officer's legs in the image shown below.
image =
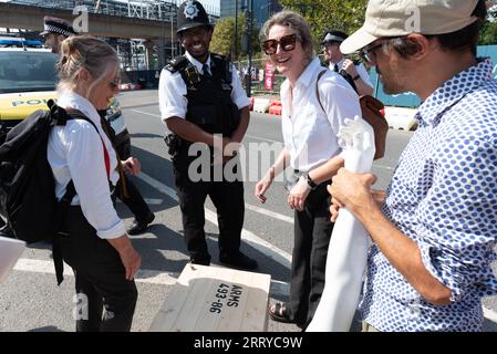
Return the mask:
<svg viewBox="0 0 497 354"><path fill-rule="evenodd" d="M151 185L152 187L154 187L155 189L157 189L158 191L166 194L167 196L169 196L173 200L178 201L178 197L176 195L176 190L174 190L173 188L159 183L158 180L152 178L151 176L148 176L145 173L141 173L139 175L137 175L138 178L142 178L143 181L145 181L146 184ZM206 214L206 220L210 221L211 223L218 226L217 223L217 215L205 208L205 214ZM241 238L247 241L251 247L253 247L256 250L258 250L259 252L261 252L262 254L269 257L270 259L272 259L273 261L282 264L286 268L290 268L291 266L291 256L289 253L287 253L283 250L280 250L279 248L272 246L271 243L262 240L261 238L257 237L255 233L242 229L241 230Z"/></svg>

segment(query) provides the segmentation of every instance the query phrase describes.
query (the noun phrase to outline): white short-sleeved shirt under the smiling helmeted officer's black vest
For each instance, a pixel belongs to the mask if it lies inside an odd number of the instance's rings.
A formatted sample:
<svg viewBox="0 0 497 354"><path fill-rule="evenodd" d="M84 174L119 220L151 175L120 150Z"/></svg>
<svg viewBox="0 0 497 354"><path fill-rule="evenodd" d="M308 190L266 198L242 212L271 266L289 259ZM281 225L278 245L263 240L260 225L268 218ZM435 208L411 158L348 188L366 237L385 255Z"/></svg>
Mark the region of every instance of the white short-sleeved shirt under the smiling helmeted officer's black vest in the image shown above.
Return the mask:
<svg viewBox="0 0 497 354"><path fill-rule="evenodd" d="M186 52L186 58L191 64L197 67L199 73L204 73L201 66L204 65L198 60L193 58ZM206 64L210 70L210 55L207 59ZM231 64L232 79L231 79L231 100L239 110L250 105L250 101L247 97L244 88L241 87L240 80L238 79L237 71ZM163 70L158 82L158 103L161 108L161 116L163 122L170 117L186 117L186 107L188 100L186 98L186 84L179 72L172 73L168 70Z"/></svg>

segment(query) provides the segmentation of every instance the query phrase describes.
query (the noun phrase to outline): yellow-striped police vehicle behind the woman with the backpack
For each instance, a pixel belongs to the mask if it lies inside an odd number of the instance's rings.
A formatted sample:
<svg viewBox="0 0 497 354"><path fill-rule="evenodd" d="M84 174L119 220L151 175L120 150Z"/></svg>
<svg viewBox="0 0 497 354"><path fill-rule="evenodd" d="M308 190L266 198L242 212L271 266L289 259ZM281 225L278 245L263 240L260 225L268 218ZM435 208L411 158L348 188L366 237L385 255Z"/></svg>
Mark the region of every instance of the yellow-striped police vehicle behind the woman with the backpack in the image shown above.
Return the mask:
<svg viewBox="0 0 497 354"><path fill-rule="evenodd" d="M56 101L59 55L42 48L41 41L0 37L0 134L37 110L48 110ZM116 98L107 108L106 119L116 133L116 148L122 159L130 157L130 133Z"/></svg>

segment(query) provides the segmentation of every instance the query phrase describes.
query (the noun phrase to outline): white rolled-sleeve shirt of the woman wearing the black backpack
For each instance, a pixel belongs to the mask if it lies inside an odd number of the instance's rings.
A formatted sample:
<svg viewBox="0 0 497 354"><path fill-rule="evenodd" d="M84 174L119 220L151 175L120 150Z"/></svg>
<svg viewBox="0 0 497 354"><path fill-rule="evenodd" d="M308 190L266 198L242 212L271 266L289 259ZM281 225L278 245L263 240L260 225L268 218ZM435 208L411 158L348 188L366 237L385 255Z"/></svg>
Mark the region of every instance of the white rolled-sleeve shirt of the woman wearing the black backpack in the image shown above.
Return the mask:
<svg viewBox="0 0 497 354"><path fill-rule="evenodd" d="M111 199L102 139L111 160L110 179L115 186L120 179L117 159L95 107L73 92L62 94L58 104L81 111L99 128L86 121L71 119L65 126L55 126L50 133L48 159L55 178L55 196L61 199L72 179L76 196L71 205L80 205L84 217L102 239L114 239L126 233Z"/></svg>

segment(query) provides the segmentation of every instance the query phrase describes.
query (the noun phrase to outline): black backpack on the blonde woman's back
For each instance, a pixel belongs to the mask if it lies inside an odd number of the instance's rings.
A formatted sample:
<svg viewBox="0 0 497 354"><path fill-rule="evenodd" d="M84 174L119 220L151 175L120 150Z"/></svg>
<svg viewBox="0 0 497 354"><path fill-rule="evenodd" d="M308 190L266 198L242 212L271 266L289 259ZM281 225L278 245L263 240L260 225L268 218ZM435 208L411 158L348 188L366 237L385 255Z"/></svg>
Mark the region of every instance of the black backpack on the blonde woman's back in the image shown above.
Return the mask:
<svg viewBox="0 0 497 354"><path fill-rule="evenodd" d="M71 180L61 201L56 200L46 158L52 127L77 118L96 129L81 112L71 111L72 117L52 100L48 106L50 111L37 111L15 125L0 145L0 214L7 218L13 236L27 243L50 240L76 194Z"/></svg>

